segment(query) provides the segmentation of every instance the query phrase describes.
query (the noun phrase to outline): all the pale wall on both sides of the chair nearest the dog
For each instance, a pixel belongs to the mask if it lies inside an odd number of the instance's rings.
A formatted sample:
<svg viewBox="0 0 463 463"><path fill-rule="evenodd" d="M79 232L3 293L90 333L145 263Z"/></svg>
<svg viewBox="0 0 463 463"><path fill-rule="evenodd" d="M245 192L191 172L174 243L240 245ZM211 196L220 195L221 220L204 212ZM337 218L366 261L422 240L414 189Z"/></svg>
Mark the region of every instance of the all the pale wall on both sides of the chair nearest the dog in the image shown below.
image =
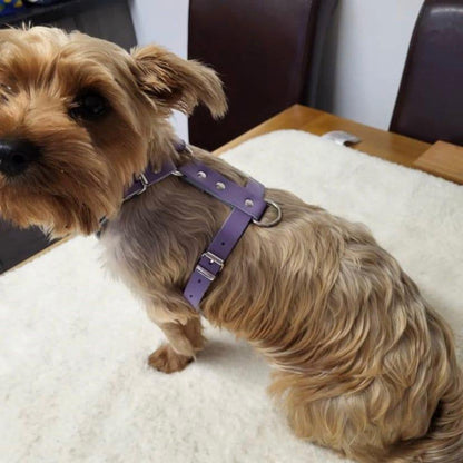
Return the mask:
<svg viewBox="0 0 463 463"><path fill-rule="evenodd" d="M287 0L290 1L290 0ZM187 55L188 0L131 0L140 45ZM317 106L387 129L423 0L339 0L324 56ZM188 138L187 120L176 117Z"/></svg>

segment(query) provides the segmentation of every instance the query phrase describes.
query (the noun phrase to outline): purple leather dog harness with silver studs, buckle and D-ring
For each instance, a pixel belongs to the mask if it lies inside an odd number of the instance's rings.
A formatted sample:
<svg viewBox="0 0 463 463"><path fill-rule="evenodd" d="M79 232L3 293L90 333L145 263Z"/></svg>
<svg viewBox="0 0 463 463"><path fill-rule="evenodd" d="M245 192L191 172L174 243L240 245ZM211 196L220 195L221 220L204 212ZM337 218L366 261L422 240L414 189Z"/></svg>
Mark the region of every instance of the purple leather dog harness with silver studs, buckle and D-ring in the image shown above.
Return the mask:
<svg viewBox="0 0 463 463"><path fill-rule="evenodd" d="M177 147L179 152L189 150L185 141ZM282 210L277 204L264 198L265 187L253 178L242 187L216 170L205 166L196 159L176 167L174 162L166 162L160 171L155 173L150 166L134 181L124 196L128 200L141 195L146 189L170 175L180 177L190 185L214 196L232 207L232 213L225 220L208 248L200 256L195 270L184 289L186 299L199 311L199 304L211 283L224 268L225 260L238 243L239 238L253 221L257 226L272 227L282 219ZM269 221L260 221L268 206L277 211L277 217Z"/></svg>

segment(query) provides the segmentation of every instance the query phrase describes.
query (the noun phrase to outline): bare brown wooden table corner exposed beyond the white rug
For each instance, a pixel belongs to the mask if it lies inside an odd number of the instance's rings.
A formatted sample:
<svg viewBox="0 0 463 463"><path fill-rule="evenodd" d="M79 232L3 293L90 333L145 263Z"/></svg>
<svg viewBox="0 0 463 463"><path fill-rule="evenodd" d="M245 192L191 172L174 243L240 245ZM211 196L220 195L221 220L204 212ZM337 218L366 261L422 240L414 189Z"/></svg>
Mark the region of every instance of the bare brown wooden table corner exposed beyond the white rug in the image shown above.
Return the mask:
<svg viewBox="0 0 463 463"><path fill-rule="evenodd" d="M407 167L413 167L413 162L431 148L430 144L413 138L364 126L318 109L294 105L214 152L220 155L249 138L280 129L305 130L315 135L345 130L362 139L354 146L355 149Z"/></svg>

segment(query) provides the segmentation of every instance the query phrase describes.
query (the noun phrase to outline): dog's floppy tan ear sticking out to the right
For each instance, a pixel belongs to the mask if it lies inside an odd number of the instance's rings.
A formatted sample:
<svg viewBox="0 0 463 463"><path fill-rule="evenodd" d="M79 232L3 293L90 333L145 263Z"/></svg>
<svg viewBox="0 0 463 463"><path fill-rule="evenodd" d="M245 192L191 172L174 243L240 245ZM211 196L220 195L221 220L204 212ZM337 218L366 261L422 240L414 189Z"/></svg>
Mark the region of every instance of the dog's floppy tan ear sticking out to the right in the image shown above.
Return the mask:
<svg viewBox="0 0 463 463"><path fill-rule="evenodd" d="M215 118L227 111L221 81L208 67L152 45L134 49L131 56L138 85L156 104L189 115L201 102Z"/></svg>

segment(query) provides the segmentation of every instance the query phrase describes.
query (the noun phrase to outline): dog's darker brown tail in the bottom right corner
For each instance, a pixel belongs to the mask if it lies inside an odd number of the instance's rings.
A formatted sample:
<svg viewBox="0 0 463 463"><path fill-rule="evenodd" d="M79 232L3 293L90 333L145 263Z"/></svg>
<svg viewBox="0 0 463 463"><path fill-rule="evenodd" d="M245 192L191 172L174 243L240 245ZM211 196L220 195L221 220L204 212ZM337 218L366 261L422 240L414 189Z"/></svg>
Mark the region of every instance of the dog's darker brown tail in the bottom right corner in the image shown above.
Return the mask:
<svg viewBox="0 0 463 463"><path fill-rule="evenodd" d="M452 378L425 436L396 445L391 463L463 463L463 375Z"/></svg>

